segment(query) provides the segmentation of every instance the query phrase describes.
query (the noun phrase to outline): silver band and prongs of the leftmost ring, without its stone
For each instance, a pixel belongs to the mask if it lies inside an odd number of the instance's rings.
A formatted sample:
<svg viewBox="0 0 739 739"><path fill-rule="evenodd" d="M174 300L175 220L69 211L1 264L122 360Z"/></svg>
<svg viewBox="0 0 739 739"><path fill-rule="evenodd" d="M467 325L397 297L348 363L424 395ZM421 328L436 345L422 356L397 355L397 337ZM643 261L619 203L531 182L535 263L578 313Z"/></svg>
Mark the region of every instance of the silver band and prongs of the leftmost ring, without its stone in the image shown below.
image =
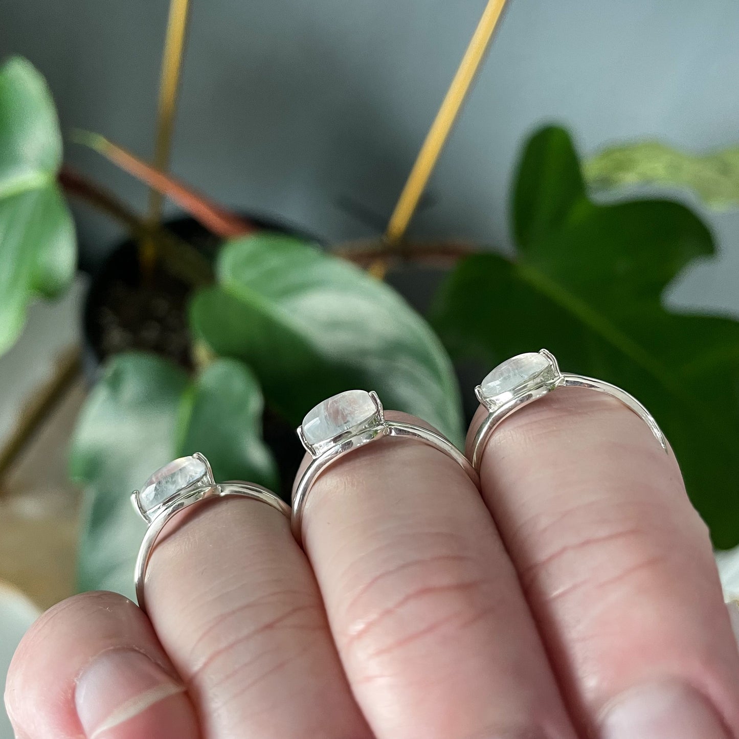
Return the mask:
<svg viewBox="0 0 739 739"><path fill-rule="evenodd" d="M197 457L204 459L202 455L197 455ZM210 466L208 466L208 471L210 471ZM149 520L149 528L146 529L146 534L144 534L143 542L141 542L141 547L136 559L136 568L134 571L136 599L140 609L143 610L144 613L146 613L146 598L144 596L146 566L149 565L151 553L154 551L154 545L157 541L157 537L161 534L162 529L172 517L184 511L185 508L189 508L195 503L200 503L202 500L211 500L214 498L225 497L227 495L237 495L240 497L251 498L252 500L259 500L262 503L271 505L272 508L275 508L287 518L290 518L290 506L287 505L284 500L267 488L263 488L254 483L228 482L221 483L220 485L209 484L197 486L194 488L187 488L181 494L177 494L176 497L172 497L171 500L167 500L166 503L157 508L157 513L154 517L147 519ZM134 497L137 496L138 493L134 493ZM136 508L141 512L139 504L136 504Z"/></svg>

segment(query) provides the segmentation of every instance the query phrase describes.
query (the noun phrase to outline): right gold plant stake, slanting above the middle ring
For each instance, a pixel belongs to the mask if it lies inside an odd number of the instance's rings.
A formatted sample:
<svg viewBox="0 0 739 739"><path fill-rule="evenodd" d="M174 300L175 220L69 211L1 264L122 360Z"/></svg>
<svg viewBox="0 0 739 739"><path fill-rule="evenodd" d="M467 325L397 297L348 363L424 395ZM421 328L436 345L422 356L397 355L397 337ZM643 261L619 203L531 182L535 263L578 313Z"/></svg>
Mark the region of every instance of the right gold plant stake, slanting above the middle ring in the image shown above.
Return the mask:
<svg viewBox="0 0 739 739"><path fill-rule="evenodd" d="M490 44L500 14L503 13L504 6L505 0L488 0L483 17L480 18L480 24L478 24L477 30L475 30L469 42L469 47L467 47L459 69L457 69L457 74L454 75L449 92L446 93L446 98L441 103L429 134L418 152L418 158L415 160L408 181L401 192L398 205L395 205L395 211L390 217L385 239L391 244L401 242L406 233L408 224L418 206L418 200L426 189L429 177L431 177L444 144L449 138L449 132L452 131L454 121L457 120L474 76L477 74L477 70L480 69L480 63L485 57L485 52ZM374 268L373 272L378 273L378 269Z"/></svg>

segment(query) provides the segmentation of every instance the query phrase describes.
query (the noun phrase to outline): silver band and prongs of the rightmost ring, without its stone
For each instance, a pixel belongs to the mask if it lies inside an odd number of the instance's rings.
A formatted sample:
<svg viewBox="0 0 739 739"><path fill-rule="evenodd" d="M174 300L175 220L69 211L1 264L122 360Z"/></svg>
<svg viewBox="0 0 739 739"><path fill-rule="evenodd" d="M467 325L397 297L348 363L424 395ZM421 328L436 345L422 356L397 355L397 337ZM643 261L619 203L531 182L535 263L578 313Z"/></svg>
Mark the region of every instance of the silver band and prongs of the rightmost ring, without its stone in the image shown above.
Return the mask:
<svg viewBox="0 0 739 739"><path fill-rule="evenodd" d="M638 415L638 417L647 424L656 440L660 443L662 449L667 452L667 439L664 437L664 434L659 428L657 422L654 420L652 414L641 403L639 403L633 395L629 395L625 390L622 390L620 387L616 387L616 385L610 384L610 382L596 380L591 377L585 377L584 375L573 375L568 372L560 372L556 358L554 358L554 355L545 349L542 349L539 352L539 355L547 360L548 369L545 368L540 370L538 375L534 375L523 381L520 386L504 389L503 392L500 392L498 395L486 395L484 385L485 381L483 381L482 385L478 385L475 388L477 400L479 400L480 403L482 403L482 405L489 411L486 419L483 420L483 423L480 424L480 428L477 429L477 434L475 435L474 442L472 444L472 466L474 466L475 470L478 472L480 471L480 463L483 457L483 451L485 450L485 445L497 426L505 418L508 418L511 413L516 412L532 401L536 401L538 398L542 398L544 395L547 395L558 387L585 387L590 390L596 390L597 392L605 392L612 398L616 398L616 400L624 403L627 408L636 413L636 415ZM513 360L509 361L516 361L527 356L530 355L519 355L519 357L514 357ZM504 362L501 364L491 372L491 375L500 368L505 367L505 364L508 363ZM490 377L490 375L488 375L488 377Z"/></svg>

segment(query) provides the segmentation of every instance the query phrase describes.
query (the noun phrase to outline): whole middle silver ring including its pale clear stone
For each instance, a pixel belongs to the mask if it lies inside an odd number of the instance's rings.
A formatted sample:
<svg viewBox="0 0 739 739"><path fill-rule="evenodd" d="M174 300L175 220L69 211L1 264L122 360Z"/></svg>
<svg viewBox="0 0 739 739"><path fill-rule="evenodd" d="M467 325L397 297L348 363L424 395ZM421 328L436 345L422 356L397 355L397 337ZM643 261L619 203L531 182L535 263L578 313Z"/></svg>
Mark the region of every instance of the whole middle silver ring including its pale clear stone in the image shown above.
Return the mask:
<svg viewBox="0 0 739 739"><path fill-rule="evenodd" d="M452 457L476 487L480 483L469 460L446 437L412 423L386 420L380 398L374 391L347 390L319 403L303 419L298 436L313 457L293 495L291 524L299 544L302 544L305 502L319 475L344 454L383 437L406 437L435 446Z"/></svg>

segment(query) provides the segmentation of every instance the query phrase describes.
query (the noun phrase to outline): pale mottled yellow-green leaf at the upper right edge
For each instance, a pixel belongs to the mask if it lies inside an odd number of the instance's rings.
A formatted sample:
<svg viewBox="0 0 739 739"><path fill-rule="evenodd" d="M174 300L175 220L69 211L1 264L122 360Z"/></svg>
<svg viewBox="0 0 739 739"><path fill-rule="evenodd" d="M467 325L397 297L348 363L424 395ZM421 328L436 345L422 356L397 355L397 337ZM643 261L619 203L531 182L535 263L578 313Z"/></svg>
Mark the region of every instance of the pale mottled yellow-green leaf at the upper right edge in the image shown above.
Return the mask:
<svg viewBox="0 0 739 739"><path fill-rule="evenodd" d="M691 154L658 141L613 146L585 162L585 178L597 190L627 185L689 188L719 210L739 207L739 147Z"/></svg>

